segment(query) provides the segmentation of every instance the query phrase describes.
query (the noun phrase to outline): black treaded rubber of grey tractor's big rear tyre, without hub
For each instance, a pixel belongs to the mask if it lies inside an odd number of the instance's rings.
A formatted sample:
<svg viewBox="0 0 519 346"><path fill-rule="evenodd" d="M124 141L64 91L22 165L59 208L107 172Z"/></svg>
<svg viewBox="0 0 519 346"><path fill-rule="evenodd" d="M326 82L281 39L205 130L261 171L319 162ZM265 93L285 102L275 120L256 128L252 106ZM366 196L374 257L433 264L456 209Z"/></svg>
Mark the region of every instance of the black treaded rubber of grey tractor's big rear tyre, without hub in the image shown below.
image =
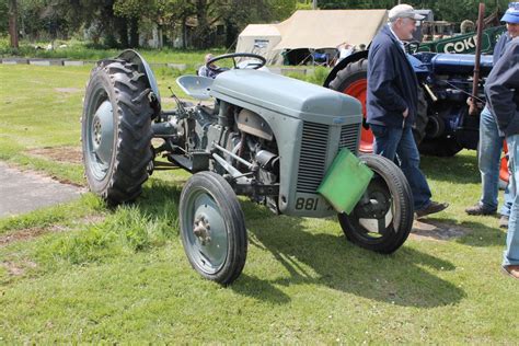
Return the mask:
<svg viewBox="0 0 519 346"><path fill-rule="evenodd" d="M116 134L113 160L107 177L103 182L95 181L89 174L88 162L83 154L86 180L91 191L101 195L109 205L119 205L135 200L142 192L142 184L148 180L148 164L153 159L150 149L152 129L151 116L153 111L148 97L150 89L146 76L138 72L136 66L124 60L103 60L92 70L86 86L83 106L85 120L86 102L102 88L103 79L115 119ZM84 150L85 125L83 124L82 141Z"/></svg>

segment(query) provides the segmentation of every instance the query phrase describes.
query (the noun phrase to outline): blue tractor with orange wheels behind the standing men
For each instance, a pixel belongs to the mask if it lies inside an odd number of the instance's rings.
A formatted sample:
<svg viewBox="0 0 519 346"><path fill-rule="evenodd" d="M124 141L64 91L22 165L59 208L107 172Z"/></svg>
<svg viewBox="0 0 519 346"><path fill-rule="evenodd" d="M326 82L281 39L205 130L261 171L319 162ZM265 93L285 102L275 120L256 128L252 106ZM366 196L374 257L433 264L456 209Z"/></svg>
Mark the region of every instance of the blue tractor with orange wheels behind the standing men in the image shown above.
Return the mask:
<svg viewBox="0 0 519 346"><path fill-rule="evenodd" d="M418 116L413 128L424 154L452 157L461 149L477 150L480 116L469 114L466 100L472 94L474 55L415 53L407 58L418 78ZM484 103L483 86L493 66L492 56L481 57L477 102ZM358 99L366 119L368 50L342 60L327 76L324 86ZM372 151L373 135L366 122L359 149ZM508 180L506 162L500 177Z"/></svg>

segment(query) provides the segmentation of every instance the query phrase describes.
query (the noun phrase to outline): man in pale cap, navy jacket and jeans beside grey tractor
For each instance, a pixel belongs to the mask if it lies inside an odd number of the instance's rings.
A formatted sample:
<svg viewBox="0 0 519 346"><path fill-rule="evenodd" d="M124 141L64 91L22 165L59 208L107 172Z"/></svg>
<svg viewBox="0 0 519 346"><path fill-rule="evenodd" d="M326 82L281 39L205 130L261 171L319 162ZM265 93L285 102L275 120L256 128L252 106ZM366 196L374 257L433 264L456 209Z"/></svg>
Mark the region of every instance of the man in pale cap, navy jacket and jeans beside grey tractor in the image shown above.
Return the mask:
<svg viewBox="0 0 519 346"><path fill-rule="evenodd" d="M418 217L438 212L448 204L430 199L431 193L419 170L419 153L412 126L418 104L418 81L405 55L403 41L413 38L417 14L408 4L390 10L389 23L377 34L368 55L368 124L374 136L374 152L394 160L411 185Z"/></svg>

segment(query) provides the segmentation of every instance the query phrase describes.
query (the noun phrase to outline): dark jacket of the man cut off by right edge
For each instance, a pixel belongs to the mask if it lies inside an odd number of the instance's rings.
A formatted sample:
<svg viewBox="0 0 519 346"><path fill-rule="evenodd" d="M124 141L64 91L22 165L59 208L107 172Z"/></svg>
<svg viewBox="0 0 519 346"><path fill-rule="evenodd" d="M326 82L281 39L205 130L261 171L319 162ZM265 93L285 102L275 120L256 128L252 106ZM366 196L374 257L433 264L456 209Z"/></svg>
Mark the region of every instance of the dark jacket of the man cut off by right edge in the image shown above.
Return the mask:
<svg viewBox="0 0 519 346"><path fill-rule="evenodd" d="M499 134L519 135L519 37L506 45L493 67L486 79L485 94Z"/></svg>

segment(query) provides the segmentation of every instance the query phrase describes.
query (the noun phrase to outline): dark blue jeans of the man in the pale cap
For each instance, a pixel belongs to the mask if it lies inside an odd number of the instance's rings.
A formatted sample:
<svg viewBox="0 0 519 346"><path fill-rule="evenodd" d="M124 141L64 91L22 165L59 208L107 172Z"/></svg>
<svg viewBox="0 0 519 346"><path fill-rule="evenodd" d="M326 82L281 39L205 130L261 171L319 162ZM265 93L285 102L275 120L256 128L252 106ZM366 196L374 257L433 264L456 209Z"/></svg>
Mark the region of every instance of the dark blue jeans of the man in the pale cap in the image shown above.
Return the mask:
<svg viewBox="0 0 519 346"><path fill-rule="evenodd" d="M374 135L373 151L395 161L411 185L415 210L430 204L430 189L424 173L419 170L419 153L411 127L396 128L369 125Z"/></svg>

